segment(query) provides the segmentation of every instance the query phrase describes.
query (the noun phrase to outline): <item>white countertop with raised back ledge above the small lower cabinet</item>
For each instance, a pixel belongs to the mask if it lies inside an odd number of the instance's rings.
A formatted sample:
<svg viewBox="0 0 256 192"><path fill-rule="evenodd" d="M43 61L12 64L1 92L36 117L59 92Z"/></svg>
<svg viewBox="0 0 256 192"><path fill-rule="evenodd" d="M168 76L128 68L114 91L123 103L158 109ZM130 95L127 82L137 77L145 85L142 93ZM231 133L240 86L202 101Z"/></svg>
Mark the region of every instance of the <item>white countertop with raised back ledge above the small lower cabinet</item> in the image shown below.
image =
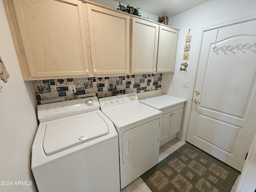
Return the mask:
<svg viewBox="0 0 256 192"><path fill-rule="evenodd" d="M187 100L167 94L162 94L162 90L143 92L137 94L140 102L152 106L158 110L168 108L180 103L184 103Z"/></svg>

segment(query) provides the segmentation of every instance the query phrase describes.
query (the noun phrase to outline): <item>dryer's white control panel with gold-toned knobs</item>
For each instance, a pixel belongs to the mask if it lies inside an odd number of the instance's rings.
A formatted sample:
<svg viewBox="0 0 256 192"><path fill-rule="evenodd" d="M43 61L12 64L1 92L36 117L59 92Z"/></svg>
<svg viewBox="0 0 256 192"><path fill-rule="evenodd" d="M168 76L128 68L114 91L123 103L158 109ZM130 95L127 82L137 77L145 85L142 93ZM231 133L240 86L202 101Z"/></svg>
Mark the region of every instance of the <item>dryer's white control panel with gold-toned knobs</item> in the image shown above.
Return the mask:
<svg viewBox="0 0 256 192"><path fill-rule="evenodd" d="M121 105L129 102L139 102L136 93L129 93L123 95L117 95L112 97L100 98L100 108L106 108L116 105Z"/></svg>

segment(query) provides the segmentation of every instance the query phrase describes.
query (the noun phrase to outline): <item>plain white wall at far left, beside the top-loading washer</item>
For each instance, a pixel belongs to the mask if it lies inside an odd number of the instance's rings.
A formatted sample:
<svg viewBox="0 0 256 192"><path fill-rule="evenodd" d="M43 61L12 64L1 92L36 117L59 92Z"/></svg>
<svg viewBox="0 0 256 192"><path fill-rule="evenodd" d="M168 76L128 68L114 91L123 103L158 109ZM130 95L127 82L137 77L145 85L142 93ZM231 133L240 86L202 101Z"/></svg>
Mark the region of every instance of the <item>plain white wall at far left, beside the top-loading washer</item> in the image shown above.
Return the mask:
<svg viewBox="0 0 256 192"><path fill-rule="evenodd" d="M0 81L0 181L12 181L12 186L0 185L0 191L36 192L30 170L31 146L37 130L36 97L32 82L23 81L2 0L0 26L0 55L10 73L7 83ZM27 182L28 186L14 185L18 181Z"/></svg>

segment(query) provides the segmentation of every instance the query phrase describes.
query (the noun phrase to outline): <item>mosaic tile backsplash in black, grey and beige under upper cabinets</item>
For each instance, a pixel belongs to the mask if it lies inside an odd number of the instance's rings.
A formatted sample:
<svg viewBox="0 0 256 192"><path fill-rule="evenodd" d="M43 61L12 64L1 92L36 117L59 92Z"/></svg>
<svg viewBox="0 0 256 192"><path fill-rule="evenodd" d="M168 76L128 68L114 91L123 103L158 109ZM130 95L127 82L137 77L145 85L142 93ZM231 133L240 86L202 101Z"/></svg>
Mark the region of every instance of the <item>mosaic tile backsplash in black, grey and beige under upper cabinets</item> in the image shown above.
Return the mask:
<svg viewBox="0 0 256 192"><path fill-rule="evenodd" d="M161 89L162 74L137 74L109 77L66 78L32 81L36 100L41 101L64 98L72 100L78 95L95 93L98 98L112 96L108 82L115 85L114 95L140 93ZM76 93L70 92L70 85L76 86Z"/></svg>

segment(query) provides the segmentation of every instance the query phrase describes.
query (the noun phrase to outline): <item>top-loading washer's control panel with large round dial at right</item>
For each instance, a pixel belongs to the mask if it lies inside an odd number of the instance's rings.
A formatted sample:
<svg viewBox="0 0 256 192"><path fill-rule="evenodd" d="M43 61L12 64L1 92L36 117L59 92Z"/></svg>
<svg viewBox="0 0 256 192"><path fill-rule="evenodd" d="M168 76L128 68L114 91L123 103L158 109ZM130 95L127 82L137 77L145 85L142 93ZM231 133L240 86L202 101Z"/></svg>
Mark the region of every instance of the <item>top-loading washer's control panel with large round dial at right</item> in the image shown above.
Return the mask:
<svg viewBox="0 0 256 192"><path fill-rule="evenodd" d="M37 116L41 123L95 110L100 110L100 103L94 96L38 105Z"/></svg>

